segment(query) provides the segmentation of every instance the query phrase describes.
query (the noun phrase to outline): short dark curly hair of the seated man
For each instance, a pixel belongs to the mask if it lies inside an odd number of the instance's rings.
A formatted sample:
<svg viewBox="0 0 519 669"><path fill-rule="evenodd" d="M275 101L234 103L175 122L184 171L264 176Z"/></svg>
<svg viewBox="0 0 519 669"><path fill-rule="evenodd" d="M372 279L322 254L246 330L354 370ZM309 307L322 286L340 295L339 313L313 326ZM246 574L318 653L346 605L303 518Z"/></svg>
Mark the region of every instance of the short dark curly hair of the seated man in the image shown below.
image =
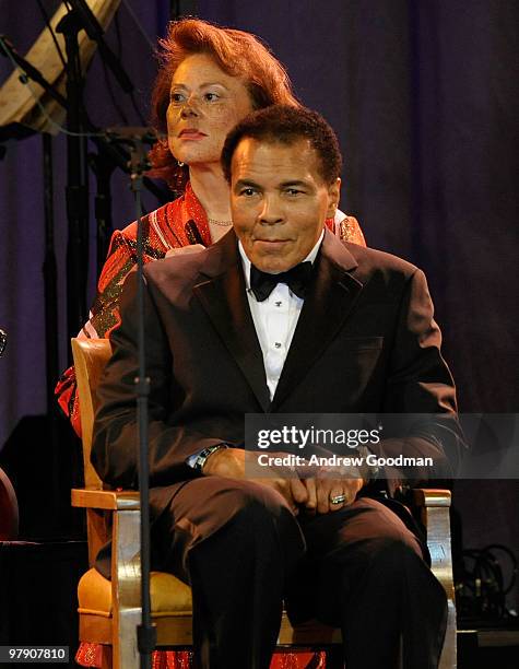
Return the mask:
<svg viewBox="0 0 519 669"><path fill-rule="evenodd" d="M231 184L231 163L243 139L251 138L268 144L294 144L307 139L319 159L319 175L330 185L341 176L342 156L337 136L317 111L306 107L273 105L252 111L227 134L222 151L222 168Z"/></svg>

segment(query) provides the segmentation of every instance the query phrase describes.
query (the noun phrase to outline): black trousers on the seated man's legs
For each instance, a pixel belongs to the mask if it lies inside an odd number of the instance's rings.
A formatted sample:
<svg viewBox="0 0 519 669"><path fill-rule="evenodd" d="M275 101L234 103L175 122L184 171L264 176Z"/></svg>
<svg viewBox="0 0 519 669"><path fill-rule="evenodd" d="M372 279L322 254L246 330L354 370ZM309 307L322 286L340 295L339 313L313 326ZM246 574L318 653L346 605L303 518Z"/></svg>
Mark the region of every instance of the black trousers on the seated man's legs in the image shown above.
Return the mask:
<svg viewBox="0 0 519 669"><path fill-rule="evenodd" d="M443 587L402 520L363 497L294 516L272 489L220 477L182 485L152 530L154 568L189 583L199 669L268 669L282 602L341 627L347 669L435 669Z"/></svg>

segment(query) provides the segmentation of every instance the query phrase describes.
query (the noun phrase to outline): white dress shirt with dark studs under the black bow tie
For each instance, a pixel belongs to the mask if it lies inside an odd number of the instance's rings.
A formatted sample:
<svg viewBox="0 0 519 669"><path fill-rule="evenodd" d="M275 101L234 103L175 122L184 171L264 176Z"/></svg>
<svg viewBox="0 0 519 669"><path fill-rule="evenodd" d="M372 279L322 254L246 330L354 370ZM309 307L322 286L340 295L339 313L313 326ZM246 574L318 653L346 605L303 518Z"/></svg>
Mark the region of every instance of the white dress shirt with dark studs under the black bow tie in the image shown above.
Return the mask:
<svg viewBox="0 0 519 669"><path fill-rule="evenodd" d="M325 231L322 231L316 245L302 262L309 260L314 263L323 236ZM250 260L245 254L241 242L238 243L238 249L244 267L247 298L261 352L263 353L267 385L269 387L270 399L272 400L305 301L294 295L286 283L278 283L267 300L258 302L250 289Z"/></svg>

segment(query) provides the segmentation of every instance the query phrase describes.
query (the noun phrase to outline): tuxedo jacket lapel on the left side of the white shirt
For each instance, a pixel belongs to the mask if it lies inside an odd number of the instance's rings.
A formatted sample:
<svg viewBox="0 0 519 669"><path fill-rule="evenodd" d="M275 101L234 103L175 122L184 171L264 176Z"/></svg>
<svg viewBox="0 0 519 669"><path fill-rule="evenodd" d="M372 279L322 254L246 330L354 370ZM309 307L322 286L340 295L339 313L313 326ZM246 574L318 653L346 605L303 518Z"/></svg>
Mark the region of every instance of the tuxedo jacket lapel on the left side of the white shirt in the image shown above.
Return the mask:
<svg viewBox="0 0 519 669"><path fill-rule="evenodd" d="M263 411L270 404L263 355L245 290L237 239L229 232L209 249L193 293L235 359Z"/></svg>

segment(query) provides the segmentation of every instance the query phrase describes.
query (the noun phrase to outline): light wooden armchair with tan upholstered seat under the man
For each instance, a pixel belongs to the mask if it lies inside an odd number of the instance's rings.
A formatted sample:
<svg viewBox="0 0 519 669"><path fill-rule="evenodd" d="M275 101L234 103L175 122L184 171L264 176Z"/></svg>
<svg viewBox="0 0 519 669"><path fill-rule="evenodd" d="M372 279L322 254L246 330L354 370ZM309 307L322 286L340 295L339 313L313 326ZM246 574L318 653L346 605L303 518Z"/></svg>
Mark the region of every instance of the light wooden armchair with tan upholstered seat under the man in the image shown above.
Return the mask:
<svg viewBox="0 0 519 669"><path fill-rule="evenodd" d="M87 514L89 559L91 568L78 587L80 639L110 645L114 669L137 669L139 655L135 626L141 621L139 495L134 491L103 490L90 461L95 411L95 388L110 357L108 340L72 339L83 432L85 489L72 491L72 504ZM456 668L456 609L450 550L450 492L415 490L415 504L427 527L427 544L433 572L448 597L448 627L440 669ZM111 513L111 524L107 513ZM95 568L98 549L110 537L113 541L111 582ZM158 647L186 647L192 644L191 591L170 574L153 572L151 576L153 621ZM280 646L322 648L341 643L340 630L318 623L293 627L285 614L281 624ZM328 664L330 666L330 664ZM339 665L342 666L342 662Z"/></svg>

